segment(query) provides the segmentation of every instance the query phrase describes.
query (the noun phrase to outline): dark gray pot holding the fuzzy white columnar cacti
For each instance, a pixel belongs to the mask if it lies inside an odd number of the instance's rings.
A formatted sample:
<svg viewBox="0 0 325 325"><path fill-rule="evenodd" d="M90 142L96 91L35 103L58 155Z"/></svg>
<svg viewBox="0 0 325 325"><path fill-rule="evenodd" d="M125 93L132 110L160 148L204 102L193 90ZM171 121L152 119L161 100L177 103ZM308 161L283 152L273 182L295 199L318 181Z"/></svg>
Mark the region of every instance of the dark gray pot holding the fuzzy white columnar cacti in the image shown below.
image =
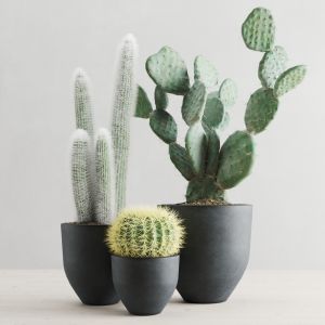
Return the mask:
<svg viewBox="0 0 325 325"><path fill-rule="evenodd" d="M61 224L64 271L84 304L119 301L113 285L110 255L104 243L107 225Z"/></svg>

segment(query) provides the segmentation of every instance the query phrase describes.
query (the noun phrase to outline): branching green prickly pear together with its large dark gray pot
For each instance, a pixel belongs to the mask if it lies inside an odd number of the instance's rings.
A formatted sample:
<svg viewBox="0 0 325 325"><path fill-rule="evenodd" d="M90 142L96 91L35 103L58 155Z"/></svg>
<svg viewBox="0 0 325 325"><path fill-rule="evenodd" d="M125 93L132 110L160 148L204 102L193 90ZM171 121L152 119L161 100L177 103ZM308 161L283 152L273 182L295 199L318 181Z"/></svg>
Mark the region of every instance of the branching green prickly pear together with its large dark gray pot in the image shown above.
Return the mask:
<svg viewBox="0 0 325 325"><path fill-rule="evenodd" d="M164 47L147 58L146 72L156 83L155 109L139 87L135 116L150 119L152 130L168 144L172 164L188 181L186 203L168 206L179 212L186 227L178 290L190 302L225 301L242 278L249 257L252 207L227 203L225 191L248 176L252 136L266 129L280 98L306 75L303 65L287 68L285 50L274 44L275 26L269 10L255 9L242 35L247 48L263 52L258 70L261 88L248 100L245 130L235 131L222 145L220 133L237 90L232 79L219 87L217 69L204 56L194 61L192 86L185 63L173 49ZM188 126L184 146L167 112L168 94L183 96L181 114Z"/></svg>

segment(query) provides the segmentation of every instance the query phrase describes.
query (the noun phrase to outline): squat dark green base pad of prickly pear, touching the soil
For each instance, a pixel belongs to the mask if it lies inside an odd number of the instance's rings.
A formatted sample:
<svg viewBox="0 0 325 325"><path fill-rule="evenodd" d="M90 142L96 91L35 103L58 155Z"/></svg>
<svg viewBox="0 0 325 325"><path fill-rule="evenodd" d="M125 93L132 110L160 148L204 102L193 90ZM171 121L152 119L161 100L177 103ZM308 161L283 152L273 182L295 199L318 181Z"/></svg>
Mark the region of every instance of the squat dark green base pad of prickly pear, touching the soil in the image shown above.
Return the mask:
<svg viewBox="0 0 325 325"><path fill-rule="evenodd" d="M193 179L187 185L186 202L192 203L207 198L222 199L223 191L218 188L213 178L206 177Z"/></svg>

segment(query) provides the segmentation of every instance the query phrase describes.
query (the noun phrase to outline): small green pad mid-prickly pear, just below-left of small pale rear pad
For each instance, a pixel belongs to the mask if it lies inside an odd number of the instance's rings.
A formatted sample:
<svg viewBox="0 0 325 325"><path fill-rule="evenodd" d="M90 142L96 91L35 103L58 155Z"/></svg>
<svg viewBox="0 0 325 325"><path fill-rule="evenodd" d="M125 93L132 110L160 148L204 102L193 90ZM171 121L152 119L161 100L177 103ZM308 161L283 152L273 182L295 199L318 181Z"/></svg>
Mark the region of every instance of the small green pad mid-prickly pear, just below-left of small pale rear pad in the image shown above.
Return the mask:
<svg viewBox="0 0 325 325"><path fill-rule="evenodd" d="M222 102L217 96L208 95L202 118L203 122L209 128L218 128L222 122L223 114L224 107Z"/></svg>

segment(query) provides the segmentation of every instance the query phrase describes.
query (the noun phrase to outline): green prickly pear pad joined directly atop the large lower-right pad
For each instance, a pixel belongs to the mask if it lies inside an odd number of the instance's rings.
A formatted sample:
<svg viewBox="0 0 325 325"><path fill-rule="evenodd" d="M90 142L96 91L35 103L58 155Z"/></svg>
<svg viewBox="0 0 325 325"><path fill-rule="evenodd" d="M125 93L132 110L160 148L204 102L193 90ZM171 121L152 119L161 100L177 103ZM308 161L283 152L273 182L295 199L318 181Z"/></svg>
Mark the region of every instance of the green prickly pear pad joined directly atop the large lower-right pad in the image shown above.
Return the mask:
<svg viewBox="0 0 325 325"><path fill-rule="evenodd" d="M245 123L248 132L263 131L277 110L278 101L272 89L258 89L251 94L245 113Z"/></svg>

